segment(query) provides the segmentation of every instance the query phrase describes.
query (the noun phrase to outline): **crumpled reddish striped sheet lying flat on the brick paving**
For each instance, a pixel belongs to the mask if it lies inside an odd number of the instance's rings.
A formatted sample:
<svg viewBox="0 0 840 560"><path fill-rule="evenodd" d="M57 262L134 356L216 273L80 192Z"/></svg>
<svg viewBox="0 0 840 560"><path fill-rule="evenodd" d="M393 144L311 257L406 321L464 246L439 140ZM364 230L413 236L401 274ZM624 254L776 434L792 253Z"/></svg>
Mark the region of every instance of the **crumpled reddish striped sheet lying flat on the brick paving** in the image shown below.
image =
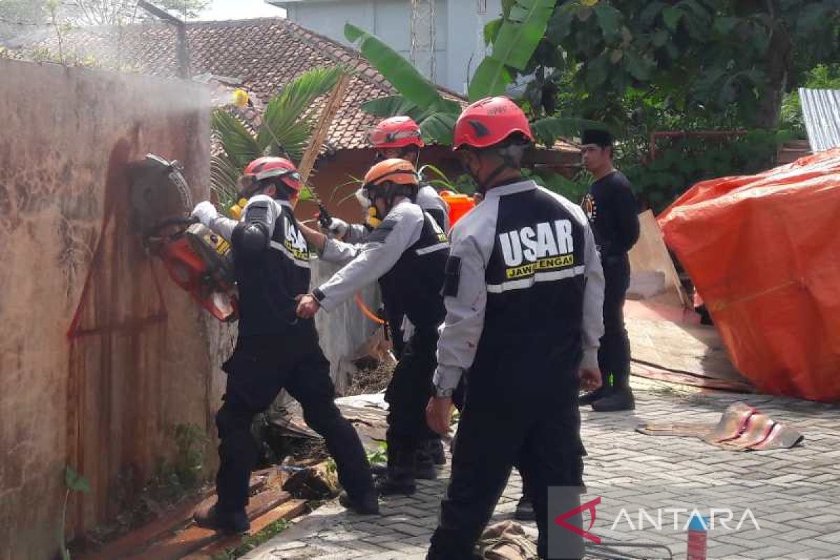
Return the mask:
<svg viewBox="0 0 840 560"><path fill-rule="evenodd" d="M729 451L790 449L805 440L795 427L774 421L743 402L728 406L717 424L646 424L636 431L648 436L699 437Z"/></svg>

